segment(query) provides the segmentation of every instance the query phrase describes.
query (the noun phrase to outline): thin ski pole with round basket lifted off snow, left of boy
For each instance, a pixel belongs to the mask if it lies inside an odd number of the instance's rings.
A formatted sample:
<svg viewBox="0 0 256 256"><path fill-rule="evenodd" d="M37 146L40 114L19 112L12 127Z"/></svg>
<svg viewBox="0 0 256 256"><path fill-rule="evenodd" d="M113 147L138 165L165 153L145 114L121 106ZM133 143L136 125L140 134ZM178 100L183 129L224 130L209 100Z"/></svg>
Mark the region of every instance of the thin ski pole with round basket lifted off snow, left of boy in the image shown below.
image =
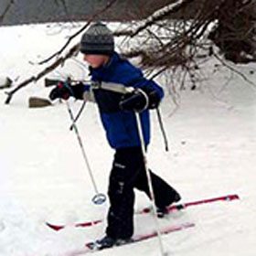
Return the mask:
<svg viewBox="0 0 256 256"><path fill-rule="evenodd" d="M67 109L68 109L68 112L69 112L70 119L72 121L72 127L73 127L73 129L74 129L74 131L75 131L75 133L77 135L77 138L78 138L78 141L79 141L79 144L80 144L81 153L82 153L85 165L87 166L87 170L89 172L89 175L91 177L92 186L93 186L94 191L96 193L96 195L94 197L92 197L91 201L94 204L96 204L96 205L101 205L101 204L103 204L106 201L106 196L104 194L102 194L102 193L99 193L99 190L98 190L98 188L96 186L96 182L95 182L94 176L93 176L92 171L91 171L91 165L89 164L88 157L85 154L85 150L84 150L81 138L80 138L80 133L79 133L79 130L78 130L78 126L75 123L74 115L73 115L73 113L71 111L71 108L69 106L69 101L66 101L66 104L67 104Z"/></svg>

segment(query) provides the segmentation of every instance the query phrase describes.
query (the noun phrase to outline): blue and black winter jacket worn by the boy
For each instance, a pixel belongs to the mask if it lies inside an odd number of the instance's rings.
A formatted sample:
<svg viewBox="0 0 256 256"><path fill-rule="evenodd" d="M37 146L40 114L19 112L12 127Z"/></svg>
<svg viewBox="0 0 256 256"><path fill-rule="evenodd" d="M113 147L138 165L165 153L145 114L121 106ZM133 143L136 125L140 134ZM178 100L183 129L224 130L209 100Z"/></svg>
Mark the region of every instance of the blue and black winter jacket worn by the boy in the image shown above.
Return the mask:
<svg viewBox="0 0 256 256"><path fill-rule="evenodd" d="M146 80L140 69L135 68L127 59L114 53L110 61L100 68L90 68L91 80L121 83L127 87L144 89L150 87L162 99L164 91L153 80ZM134 112L122 111L119 102L122 94L102 89L93 90L95 101L101 114L101 122L112 148L139 146L140 139ZM150 141L149 111L140 113L144 133L144 143Z"/></svg>

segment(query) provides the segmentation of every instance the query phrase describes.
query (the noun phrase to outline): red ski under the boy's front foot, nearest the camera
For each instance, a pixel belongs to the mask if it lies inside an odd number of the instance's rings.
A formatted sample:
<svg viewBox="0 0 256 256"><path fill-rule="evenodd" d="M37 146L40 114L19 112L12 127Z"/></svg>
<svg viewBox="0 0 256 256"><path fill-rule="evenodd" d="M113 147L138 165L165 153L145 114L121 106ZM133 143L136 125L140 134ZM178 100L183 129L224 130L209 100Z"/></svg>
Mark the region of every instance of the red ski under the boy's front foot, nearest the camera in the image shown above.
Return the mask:
<svg viewBox="0 0 256 256"><path fill-rule="evenodd" d="M186 222L186 223L182 223L182 224L174 224L174 225L170 225L168 227L165 227L163 229L160 229L160 233L162 235L166 235L166 234L169 234L169 233L172 233L172 232L193 228L195 226L196 226L195 223L192 223L192 222ZM141 241L144 241L144 240L153 239L155 237L157 237L157 232L156 231L152 231L152 232L148 232L148 233L144 233L144 234L137 234L137 235L133 236L132 240L129 240L128 242L121 243L121 244L118 244L118 245L114 245L113 247L120 247L120 246L123 246L123 245L129 245L129 244L141 242ZM113 248L113 247L111 247L111 248ZM111 248L105 248L105 249L111 249ZM69 251L69 253L67 255L69 255L69 256L83 255L83 254L86 254L86 253L89 253L89 252L103 251L105 249L98 249L97 248L97 243L95 241L91 241L91 242L85 243L85 248L77 250L77 251Z"/></svg>

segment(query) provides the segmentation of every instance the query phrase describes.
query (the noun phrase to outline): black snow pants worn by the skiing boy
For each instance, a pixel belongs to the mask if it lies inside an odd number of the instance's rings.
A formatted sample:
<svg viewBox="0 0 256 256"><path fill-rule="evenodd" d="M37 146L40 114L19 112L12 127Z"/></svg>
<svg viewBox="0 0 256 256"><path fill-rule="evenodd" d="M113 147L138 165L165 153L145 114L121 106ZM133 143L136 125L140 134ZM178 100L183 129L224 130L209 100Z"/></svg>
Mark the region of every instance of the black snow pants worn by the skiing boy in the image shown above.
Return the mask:
<svg viewBox="0 0 256 256"><path fill-rule="evenodd" d="M176 190L150 171L155 205L164 208L174 201ZM112 164L108 196L107 236L113 239L127 239L133 236L133 188L144 191L150 197L144 157L140 147L117 149Z"/></svg>

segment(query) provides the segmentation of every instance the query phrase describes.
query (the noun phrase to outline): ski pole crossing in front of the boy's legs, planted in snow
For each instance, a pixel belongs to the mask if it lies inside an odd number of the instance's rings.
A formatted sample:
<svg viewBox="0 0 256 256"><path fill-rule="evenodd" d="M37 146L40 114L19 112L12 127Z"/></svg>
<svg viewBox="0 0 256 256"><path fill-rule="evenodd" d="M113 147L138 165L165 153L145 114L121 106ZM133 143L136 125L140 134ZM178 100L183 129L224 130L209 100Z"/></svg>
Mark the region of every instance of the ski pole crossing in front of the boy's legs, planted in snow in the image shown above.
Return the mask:
<svg viewBox="0 0 256 256"><path fill-rule="evenodd" d="M157 219L156 206L155 206L155 194L154 194L153 185L152 185L152 178L150 176L150 171L149 171L149 168L147 165L145 144L144 144L144 134L143 134L142 123L141 123L139 112L135 112L135 118L136 118L136 123L137 123L137 127L138 127L138 133L139 133L142 153L143 153L143 157L144 157L144 168L145 168L145 172L146 172L146 176L147 176L149 193L150 193L150 197L151 197L151 201L152 201L152 205L153 205L154 219L155 219L155 231L157 233L157 238L159 241L159 248L160 248L161 255L166 256L167 253L164 250L163 240L162 240L162 236L161 236L161 232L160 232L160 226L159 226L158 219Z"/></svg>

